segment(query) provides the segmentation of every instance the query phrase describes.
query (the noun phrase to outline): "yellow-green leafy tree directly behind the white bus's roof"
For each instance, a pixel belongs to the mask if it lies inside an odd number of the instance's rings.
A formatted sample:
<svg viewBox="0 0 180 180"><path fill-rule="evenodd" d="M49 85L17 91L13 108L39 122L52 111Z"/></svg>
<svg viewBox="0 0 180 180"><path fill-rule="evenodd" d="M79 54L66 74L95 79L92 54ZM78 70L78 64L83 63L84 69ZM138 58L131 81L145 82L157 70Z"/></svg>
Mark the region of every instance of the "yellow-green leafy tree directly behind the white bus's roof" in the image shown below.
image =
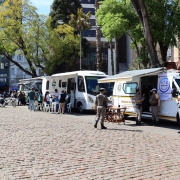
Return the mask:
<svg viewBox="0 0 180 180"><path fill-rule="evenodd" d="M50 25L50 24L49 24ZM51 27L49 27L51 29ZM67 24L59 25L53 30L49 41L51 49L48 54L48 61L46 61L46 72L52 74L55 72L56 67L64 68L66 65L75 66L76 59L79 52L80 36L75 34L74 28Z"/></svg>

